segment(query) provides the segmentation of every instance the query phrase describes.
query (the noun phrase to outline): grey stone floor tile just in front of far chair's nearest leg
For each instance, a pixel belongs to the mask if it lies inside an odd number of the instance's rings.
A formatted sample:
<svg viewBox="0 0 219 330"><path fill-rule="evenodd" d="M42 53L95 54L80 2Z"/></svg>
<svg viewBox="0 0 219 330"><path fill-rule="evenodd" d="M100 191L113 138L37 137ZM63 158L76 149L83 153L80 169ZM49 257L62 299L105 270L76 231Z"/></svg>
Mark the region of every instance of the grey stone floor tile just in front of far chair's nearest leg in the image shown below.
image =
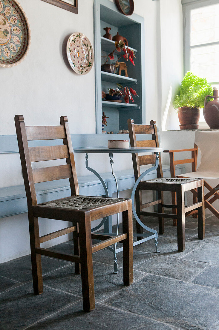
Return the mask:
<svg viewBox="0 0 219 330"><path fill-rule="evenodd" d="M189 281L205 267L206 265L201 262L157 255L134 269L154 275Z"/></svg>

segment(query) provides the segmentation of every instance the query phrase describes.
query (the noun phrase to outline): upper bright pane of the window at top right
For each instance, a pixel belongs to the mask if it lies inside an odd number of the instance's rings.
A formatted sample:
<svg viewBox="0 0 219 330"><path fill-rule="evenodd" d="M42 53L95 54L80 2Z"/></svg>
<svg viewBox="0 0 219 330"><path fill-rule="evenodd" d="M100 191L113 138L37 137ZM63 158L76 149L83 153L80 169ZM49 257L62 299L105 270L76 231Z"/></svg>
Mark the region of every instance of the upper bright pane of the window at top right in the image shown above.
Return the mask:
<svg viewBox="0 0 219 330"><path fill-rule="evenodd" d="M219 4L191 10L190 45L219 41Z"/></svg>

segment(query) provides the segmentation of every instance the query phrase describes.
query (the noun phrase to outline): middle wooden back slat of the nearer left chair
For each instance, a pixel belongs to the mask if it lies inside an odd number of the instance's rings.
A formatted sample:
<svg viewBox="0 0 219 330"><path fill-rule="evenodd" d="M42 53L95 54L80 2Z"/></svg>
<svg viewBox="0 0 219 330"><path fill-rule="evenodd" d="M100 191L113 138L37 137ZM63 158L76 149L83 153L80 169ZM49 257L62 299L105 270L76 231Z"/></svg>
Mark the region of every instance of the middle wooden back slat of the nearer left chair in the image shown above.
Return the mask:
<svg viewBox="0 0 219 330"><path fill-rule="evenodd" d="M68 158L67 145L46 146L46 147L29 147L30 161L40 162L43 160Z"/></svg>

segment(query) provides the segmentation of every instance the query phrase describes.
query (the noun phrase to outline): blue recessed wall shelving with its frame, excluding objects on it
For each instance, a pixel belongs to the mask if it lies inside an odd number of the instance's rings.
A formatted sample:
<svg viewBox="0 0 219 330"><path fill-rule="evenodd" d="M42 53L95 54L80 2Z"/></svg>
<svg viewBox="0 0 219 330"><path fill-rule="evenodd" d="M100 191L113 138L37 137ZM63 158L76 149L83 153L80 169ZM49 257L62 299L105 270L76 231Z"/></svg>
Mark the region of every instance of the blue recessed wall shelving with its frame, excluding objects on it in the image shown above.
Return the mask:
<svg viewBox="0 0 219 330"><path fill-rule="evenodd" d="M146 101L145 101L145 28L144 18L132 14L121 14L115 3L109 0L94 0L94 56L95 56L95 102L96 102L96 133L102 133L102 112L107 119L107 131L118 132L119 129L128 129L127 120L134 119L136 124L146 124ZM135 66L127 61L129 77L119 76L101 71L101 55L109 54L115 49L112 40L104 38L104 28L110 27L112 36L119 35L127 38L128 48L136 54ZM102 52L102 53L101 53ZM122 55L123 52L121 52ZM120 59L122 61L122 59ZM113 63L109 60L108 63ZM131 78L133 77L133 78ZM108 88L116 88L116 83L127 85L136 90L138 97L134 97L135 104L114 103L102 101L101 91Z"/></svg>

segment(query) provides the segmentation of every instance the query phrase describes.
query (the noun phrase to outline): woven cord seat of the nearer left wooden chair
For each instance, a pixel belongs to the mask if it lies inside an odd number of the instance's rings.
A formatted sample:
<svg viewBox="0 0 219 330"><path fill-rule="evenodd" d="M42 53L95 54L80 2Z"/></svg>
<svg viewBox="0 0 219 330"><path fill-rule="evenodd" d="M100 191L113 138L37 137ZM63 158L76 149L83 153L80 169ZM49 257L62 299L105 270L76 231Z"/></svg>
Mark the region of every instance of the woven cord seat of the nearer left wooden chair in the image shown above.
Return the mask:
<svg viewBox="0 0 219 330"><path fill-rule="evenodd" d="M109 197L71 196L67 198L57 199L51 202L42 203L40 205L74 210L91 210L97 207L121 202L122 200L125 201L125 199L121 198L119 199Z"/></svg>

